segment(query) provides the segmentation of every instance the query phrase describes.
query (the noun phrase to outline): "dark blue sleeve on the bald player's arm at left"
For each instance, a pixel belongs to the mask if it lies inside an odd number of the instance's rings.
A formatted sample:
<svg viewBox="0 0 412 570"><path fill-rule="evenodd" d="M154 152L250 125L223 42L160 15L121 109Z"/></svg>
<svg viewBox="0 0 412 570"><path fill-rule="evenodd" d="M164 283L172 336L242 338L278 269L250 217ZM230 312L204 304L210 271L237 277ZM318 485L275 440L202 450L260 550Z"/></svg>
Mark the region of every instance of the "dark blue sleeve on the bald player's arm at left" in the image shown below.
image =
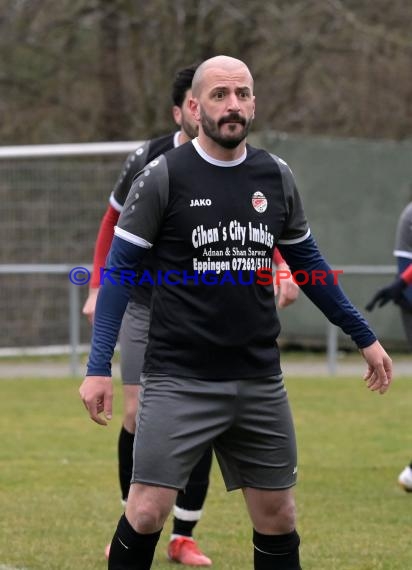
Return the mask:
<svg viewBox="0 0 412 570"><path fill-rule="evenodd" d="M100 274L86 376L111 376L111 360L137 268L147 249L114 236Z"/></svg>

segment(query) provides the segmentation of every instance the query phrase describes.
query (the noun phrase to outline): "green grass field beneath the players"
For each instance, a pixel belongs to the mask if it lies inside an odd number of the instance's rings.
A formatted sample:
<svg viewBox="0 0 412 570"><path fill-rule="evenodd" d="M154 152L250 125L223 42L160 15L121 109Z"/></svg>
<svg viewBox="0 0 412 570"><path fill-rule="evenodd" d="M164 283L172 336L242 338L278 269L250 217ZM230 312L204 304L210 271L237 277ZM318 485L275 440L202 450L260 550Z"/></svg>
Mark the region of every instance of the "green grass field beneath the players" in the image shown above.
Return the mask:
<svg viewBox="0 0 412 570"><path fill-rule="evenodd" d="M93 424L77 380L0 380L0 570L100 570L121 514L116 440ZM409 570L412 494L396 484L412 456L412 380L385 396L359 379L288 378L299 444L296 487L304 570ZM169 525L157 549L167 562ZM216 570L252 568L240 492L216 462L196 529Z"/></svg>

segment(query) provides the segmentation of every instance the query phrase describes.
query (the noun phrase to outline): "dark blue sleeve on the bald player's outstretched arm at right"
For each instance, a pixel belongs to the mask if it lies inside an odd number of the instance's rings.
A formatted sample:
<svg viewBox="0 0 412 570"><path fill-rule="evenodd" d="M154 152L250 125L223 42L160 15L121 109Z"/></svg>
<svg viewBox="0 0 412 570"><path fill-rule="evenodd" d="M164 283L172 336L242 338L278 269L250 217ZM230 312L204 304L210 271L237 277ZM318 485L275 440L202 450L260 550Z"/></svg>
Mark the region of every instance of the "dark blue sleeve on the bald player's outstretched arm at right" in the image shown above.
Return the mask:
<svg viewBox="0 0 412 570"><path fill-rule="evenodd" d="M358 348L366 348L376 341L365 318L339 286L337 275L323 258L312 236L300 243L278 244L278 248L292 274L301 272L296 275L297 281L308 279L300 288L331 323L350 335Z"/></svg>

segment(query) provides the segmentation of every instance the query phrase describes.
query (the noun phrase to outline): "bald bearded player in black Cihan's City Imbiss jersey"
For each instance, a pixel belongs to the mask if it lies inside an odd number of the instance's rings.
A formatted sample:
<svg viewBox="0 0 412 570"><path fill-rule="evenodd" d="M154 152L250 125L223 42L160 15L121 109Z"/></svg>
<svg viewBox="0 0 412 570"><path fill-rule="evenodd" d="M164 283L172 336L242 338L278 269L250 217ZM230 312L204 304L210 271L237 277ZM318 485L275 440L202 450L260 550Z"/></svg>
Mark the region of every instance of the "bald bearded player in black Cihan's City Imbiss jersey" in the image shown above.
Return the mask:
<svg viewBox="0 0 412 570"><path fill-rule="evenodd" d="M320 254L289 167L246 144L255 112L247 66L211 58L197 69L192 92L198 137L151 161L129 192L80 387L90 417L106 424L126 277L154 247L155 275L144 276L154 291L133 477L109 570L151 568L176 494L210 444L227 489L243 491L254 569L300 570L296 443L269 278L276 244L292 272L308 276L308 297L359 347L370 390L386 392L392 363Z"/></svg>

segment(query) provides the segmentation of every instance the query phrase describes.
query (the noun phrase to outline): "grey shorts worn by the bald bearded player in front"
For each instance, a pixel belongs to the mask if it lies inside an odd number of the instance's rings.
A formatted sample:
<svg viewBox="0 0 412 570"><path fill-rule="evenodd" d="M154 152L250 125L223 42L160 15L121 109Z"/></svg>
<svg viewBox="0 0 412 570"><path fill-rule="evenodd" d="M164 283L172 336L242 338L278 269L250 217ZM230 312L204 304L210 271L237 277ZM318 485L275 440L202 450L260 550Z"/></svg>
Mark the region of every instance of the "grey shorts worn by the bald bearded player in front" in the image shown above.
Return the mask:
<svg viewBox="0 0 412 570"><path fill-rule="evenodd" d="M295 430L282 378L142 374L132 483L184 489L210 444L228 491L294 485Z"/></svg>

